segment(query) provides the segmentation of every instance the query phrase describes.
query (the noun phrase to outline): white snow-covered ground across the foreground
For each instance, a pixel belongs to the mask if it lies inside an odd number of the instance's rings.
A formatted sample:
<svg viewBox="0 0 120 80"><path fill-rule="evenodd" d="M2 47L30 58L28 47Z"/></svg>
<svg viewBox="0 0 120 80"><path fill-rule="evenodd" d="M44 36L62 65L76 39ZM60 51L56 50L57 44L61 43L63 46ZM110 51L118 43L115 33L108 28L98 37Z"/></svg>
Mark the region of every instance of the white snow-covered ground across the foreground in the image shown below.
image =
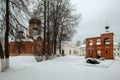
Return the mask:
<svg viewBox="0 0 120 80"><path fill-rule="evenodd" d="M36 62L33 56L10 57L0 80L120 80L120 59L87 64L84 57L65 56ZM107 67L106 67L107 66Z"/></svg>

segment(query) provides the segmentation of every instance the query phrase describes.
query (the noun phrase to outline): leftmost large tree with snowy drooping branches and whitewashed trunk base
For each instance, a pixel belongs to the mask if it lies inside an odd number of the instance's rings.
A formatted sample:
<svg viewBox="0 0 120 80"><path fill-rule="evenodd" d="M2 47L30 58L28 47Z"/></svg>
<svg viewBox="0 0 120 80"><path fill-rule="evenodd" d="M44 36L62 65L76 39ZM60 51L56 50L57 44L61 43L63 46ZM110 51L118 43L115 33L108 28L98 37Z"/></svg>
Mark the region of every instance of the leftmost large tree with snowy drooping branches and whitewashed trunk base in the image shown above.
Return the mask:
<svg viewBox="0 0 120 80"><path fill-rule="evenodd" d="M0 0L0 25L3 30L5 45L3 45L4 68L9 67L9 36L16 36L18 32L18 26L26 28L20 22L20 13L28 13L27 7L23 0ZM28 14L29 15L29 14ZM22 18L22 16L21 16ZM4 51L5 49L5 51ZM3 57L3 58L4 58Z"/></svg>

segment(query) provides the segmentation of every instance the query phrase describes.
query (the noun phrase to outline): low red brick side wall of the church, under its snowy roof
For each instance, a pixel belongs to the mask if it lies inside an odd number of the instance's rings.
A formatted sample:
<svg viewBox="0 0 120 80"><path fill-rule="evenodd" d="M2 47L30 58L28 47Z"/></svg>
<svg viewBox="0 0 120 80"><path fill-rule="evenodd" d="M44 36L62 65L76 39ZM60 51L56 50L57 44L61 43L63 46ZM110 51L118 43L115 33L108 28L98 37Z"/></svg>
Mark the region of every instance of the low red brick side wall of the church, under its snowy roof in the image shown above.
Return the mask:
<svg viewBox="0 0 120 80"><path fill-rule="evenodd" d="M10 55L16 56L20 54L33 54L34 42L10 42L9 43Z"/></svg>

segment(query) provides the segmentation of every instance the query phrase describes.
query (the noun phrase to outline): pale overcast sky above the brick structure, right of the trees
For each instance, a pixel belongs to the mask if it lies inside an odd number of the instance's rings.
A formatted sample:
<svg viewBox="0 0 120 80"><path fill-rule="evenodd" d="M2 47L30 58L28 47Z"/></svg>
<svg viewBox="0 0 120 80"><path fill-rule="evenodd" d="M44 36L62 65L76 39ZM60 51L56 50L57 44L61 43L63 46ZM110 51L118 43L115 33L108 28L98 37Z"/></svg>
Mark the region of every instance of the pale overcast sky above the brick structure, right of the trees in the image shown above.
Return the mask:
<svg viewBox="0 0 120 80"><path fill-rule="evenodd" d="M108 19L114 41L120 42L120 0L71 0L81 14L81 21L73 42L105 33Z"/></svg>

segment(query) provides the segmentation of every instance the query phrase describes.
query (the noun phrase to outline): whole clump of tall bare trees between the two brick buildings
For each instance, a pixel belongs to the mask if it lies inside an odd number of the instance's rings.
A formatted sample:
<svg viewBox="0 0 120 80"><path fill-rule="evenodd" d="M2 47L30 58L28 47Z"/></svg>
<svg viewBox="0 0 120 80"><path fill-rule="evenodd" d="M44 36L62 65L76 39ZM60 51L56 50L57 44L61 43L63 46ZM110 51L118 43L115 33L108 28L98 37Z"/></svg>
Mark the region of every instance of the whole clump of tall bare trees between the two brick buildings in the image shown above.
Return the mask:
<svg viewBox="0 0 120 80"><path fill-rule="evenodd" d="M45 43L47 42L49 46L52 40L53 54L55 55L56 48L61 47L61 41L71 40L75 33L74 28L79 23L80 15L72 13L75 9L70 0L41 0L36 10L44 31L43 54L46 53L47 48Z"/></svg>

